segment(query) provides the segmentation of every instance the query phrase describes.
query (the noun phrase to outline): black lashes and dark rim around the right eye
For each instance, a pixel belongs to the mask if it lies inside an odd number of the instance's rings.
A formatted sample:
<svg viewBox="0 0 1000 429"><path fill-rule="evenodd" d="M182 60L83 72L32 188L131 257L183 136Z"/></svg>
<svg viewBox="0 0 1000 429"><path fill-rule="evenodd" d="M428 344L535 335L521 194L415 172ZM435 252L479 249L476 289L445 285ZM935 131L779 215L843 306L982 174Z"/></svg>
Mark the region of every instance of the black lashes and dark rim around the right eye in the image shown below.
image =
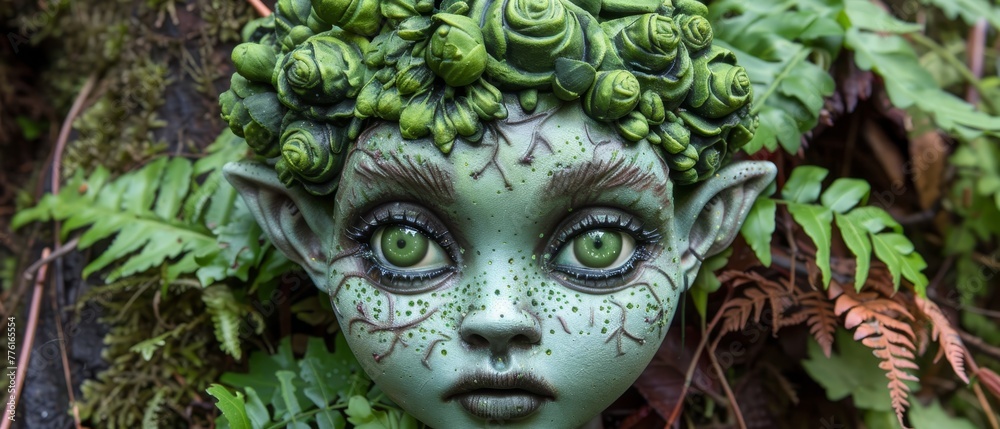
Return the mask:
<svg viewBox="0 0 1000 429"><path fill-rule="evenodd" d="M635 272L639 263L649 260L654 256L657 243L660 242L662 234L657 230L646 229L641 220L637 217L619 212L617 210L590 211L581 217L568 220L569 227L560 227L559 233L553 237L549 243L545 258L551 261L559 251L580 234L598 229L607 228L617 230L632 236L635 240L635 251L632 256L622 266L613 270L593 270L581 269L578 267L568 267L558 264L550 264L549 269L558 271L564 275L564 279L571 284L588 289L611 289L622 286L626 278Z"/></svg>

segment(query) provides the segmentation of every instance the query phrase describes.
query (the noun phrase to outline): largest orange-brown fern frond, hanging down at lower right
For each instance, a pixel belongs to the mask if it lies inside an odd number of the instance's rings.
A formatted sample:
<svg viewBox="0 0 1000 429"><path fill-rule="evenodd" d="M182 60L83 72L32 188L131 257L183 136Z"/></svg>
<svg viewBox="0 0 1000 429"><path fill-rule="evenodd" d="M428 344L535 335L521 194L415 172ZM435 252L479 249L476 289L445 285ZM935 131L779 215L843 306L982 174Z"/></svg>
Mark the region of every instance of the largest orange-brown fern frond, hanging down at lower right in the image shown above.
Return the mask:
<svg viewBox="0 0 1000 429"><path fill-rule="evenodd" d="M861 340L882 361L879 368L886 372L889 379L892 408L900 426L906 427L903 413L910 405L910 387L906 381L918 381L916 376L907 372L918 369L913 363L916 346L910 326L915 318L900 302L899 294L890 298L871 289L866 286L858 293L853 287L843 288L839 283L832 282L829 294L831 299L836 299L834 313L844 316L845 328L854 329L855 341Z"/></svg>

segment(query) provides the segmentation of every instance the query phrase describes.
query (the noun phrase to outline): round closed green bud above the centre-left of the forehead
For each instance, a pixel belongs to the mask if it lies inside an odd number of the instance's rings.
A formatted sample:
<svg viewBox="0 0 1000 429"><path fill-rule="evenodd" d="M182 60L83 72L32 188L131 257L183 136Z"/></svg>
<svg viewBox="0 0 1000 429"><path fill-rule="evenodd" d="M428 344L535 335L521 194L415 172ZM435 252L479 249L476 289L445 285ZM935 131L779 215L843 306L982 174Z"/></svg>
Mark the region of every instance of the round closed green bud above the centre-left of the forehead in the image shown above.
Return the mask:
<svg viewBox="0 0 1000 429"><path fill-rule="evenodd" d="M427 66L450 86L465 86L486 70L486 46L479 26L467 16L434 15L441 24L427 47Z"/></svg>

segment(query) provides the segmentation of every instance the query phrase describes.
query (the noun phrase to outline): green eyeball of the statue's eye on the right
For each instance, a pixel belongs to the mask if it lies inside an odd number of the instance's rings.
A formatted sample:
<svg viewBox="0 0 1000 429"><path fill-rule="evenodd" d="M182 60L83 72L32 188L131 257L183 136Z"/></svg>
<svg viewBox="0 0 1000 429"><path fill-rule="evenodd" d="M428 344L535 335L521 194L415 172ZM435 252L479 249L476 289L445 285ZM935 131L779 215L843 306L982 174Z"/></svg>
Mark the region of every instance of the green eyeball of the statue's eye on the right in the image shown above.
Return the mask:
<svg viewBox="0 0 1000 429"><path fill-rule="evenodd" d="M635 239L612 229L593 229L577 235L552 261L564 269L614 271L623 268L635 253Z"/></svg>

